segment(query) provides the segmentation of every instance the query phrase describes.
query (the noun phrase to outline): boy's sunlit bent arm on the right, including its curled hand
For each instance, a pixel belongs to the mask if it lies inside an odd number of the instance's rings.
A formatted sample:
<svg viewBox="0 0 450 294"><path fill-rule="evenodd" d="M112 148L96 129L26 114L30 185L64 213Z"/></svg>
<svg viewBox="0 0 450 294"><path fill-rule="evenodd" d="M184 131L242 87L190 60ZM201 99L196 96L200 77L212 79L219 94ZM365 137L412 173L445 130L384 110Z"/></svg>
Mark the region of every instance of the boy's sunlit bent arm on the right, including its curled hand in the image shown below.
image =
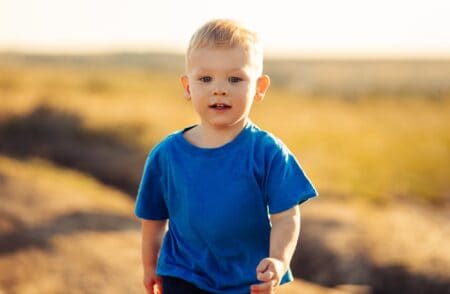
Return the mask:
<svg viewBox="0 0 450 294"><path fill-rule="evenodd" d="M270 256L264 258L256 268L261 284L253 285L252 292L270 290L277 287L289 265L297 246L300 233L300 209L296 205L291 209L270 216Z"/></svg>

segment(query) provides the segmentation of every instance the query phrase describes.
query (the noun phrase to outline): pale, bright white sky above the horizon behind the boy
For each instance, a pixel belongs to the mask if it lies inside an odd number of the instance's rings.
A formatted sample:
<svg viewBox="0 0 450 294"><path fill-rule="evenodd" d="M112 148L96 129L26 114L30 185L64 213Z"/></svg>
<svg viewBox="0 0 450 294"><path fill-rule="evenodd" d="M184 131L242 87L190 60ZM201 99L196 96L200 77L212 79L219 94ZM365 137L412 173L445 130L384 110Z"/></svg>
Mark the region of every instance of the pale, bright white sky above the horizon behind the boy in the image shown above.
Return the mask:
<svg viewBox="0 0 450 294"><path fill-rule="evenodd" d="M183 53L213 18L271 56L450 57L447 0L0 0L0 51Z"/></svg>

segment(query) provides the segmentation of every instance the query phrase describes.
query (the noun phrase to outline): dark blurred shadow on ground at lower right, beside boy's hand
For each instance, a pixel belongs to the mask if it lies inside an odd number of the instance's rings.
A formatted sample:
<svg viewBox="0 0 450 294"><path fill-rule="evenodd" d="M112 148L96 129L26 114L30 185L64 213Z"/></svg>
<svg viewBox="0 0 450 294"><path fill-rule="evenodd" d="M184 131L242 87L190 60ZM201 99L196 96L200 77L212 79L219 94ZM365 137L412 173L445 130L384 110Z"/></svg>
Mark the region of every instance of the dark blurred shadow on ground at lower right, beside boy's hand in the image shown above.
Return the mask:
<svg viewBox="0 0 450 294"><path fill-rule="evenodd" d="M321 237L346 224L304 219L302 235L292 260L294 276L327 287L369 285L372 293L450 293L450 281L408 271L402 265L379 266L363 248L352 244L348 253L331 250Z"/></svg>

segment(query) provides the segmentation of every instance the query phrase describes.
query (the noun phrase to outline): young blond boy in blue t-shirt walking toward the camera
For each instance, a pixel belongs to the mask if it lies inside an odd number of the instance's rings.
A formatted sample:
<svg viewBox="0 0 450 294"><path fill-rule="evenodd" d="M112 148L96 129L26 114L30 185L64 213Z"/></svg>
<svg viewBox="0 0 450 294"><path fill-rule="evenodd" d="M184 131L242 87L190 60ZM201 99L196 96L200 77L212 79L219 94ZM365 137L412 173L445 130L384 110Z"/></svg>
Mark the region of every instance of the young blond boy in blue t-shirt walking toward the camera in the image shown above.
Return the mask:
<svg viewBox="0 0 450 294"><path fill-rule="evenodd" d="M233 21L193 35L181 83L200 122L153 148L136 200L147 293L273 293L292 281L298 204L317 192L248 118L269 87L262 65L257 36Z"/></svg>

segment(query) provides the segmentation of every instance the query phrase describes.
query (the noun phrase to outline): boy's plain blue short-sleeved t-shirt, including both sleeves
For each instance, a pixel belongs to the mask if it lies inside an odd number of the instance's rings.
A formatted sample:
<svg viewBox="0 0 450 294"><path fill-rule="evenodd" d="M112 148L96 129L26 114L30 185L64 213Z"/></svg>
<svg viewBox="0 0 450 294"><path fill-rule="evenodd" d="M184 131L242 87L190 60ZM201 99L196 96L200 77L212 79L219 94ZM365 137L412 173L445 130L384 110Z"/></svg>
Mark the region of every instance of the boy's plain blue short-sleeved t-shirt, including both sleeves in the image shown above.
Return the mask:
<svg viewBox="0 0 450 294"><path fill-rule="evenodd" d="M288 148L250 121L218 148L189 143L190 128L153 148L139 186L136 215L169 219L156 272L212 293L249 293L269 256L269 214L317 191ZM292 279L289 270L282 283Z"/></svg>

